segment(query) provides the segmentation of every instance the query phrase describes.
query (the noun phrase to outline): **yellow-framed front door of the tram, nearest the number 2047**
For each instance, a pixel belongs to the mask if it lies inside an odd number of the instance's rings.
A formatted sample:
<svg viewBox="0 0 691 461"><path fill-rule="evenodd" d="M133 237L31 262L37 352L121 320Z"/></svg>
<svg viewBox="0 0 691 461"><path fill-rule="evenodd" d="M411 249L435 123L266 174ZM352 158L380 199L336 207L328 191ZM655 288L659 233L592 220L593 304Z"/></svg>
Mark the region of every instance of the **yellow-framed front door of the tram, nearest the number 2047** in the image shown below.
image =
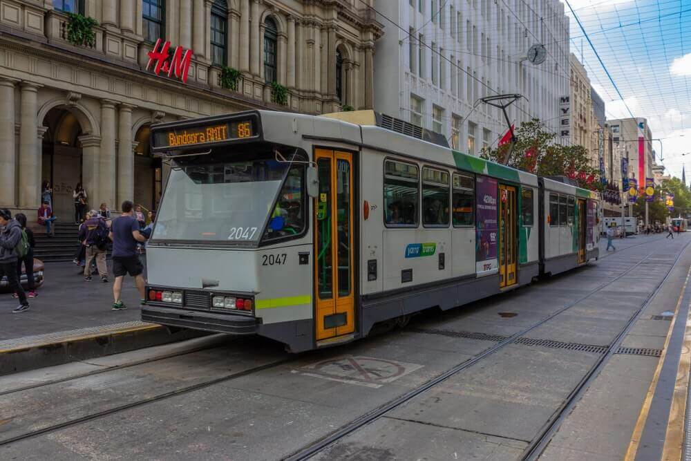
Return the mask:
<svg viewBox="0 0 691 461"><path fill-rule="evenodd" d="M315 149L319 196L314 207L316 339L355 330L352 154Z"/></svg>

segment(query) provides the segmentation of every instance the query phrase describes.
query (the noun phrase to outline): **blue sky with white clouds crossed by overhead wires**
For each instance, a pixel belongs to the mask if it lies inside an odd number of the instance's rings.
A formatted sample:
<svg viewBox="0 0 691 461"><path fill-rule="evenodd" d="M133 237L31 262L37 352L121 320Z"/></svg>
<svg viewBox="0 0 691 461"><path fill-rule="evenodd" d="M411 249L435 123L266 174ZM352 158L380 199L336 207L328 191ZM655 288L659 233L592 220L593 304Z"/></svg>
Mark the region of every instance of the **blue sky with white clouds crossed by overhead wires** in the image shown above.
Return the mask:
<svg viewBox="0 0 691 461"><path fill-rule="evenodd" d="M660 139L653 141L656 161L678 178L685 163L688 182L691 0L561 1L571 23L571 52L583 62L591 85L605 101L607 118L646 118L652 138Z"/></svg>

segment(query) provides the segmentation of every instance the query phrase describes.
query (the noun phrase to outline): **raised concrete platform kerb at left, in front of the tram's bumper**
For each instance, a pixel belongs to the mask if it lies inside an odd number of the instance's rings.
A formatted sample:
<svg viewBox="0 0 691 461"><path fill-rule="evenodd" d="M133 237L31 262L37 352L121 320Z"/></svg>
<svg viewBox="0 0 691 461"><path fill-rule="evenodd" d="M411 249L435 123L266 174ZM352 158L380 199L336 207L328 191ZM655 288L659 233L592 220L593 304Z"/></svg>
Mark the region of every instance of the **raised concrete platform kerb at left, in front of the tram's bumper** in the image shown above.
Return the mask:
<svg viewBox="0 0 691 461"><path fill-rule="evenodd" d="M0 341L0 376L207 335L141 321Z"/></svg>

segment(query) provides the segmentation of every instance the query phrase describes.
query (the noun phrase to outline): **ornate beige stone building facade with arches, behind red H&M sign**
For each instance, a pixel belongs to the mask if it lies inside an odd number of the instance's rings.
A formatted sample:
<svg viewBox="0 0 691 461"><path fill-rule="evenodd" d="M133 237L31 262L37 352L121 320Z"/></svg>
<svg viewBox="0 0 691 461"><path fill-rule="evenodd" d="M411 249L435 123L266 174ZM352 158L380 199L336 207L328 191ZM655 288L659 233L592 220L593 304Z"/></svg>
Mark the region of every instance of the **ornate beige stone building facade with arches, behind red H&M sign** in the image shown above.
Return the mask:
<svg viewBox="0 0 691 461"><path fill-rule="evenodd" d="M371 108L383 29L371 1L0 0L0 207L37 209L48 180L64 220L77 182L89 207L155 208L166 176L149 153L155 122ZM70 12L98 22L93 43L69 40ZM191 50L187 82L147 68L158 39ZM239 71L232 85L224 68Z"/></svg>

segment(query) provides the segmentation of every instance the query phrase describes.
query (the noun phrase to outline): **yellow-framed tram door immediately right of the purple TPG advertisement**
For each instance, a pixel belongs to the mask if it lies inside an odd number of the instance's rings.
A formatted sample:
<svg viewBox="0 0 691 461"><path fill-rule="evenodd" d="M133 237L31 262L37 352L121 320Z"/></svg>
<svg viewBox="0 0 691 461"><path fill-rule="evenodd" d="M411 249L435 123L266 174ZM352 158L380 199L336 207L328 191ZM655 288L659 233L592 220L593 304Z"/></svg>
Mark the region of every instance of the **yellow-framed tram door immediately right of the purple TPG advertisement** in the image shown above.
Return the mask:
<svg viewBox="0 0 691 461"><path fill-rule="evenodd" d="M518 187L499 185L499 287L518 283Z"/></svg>

